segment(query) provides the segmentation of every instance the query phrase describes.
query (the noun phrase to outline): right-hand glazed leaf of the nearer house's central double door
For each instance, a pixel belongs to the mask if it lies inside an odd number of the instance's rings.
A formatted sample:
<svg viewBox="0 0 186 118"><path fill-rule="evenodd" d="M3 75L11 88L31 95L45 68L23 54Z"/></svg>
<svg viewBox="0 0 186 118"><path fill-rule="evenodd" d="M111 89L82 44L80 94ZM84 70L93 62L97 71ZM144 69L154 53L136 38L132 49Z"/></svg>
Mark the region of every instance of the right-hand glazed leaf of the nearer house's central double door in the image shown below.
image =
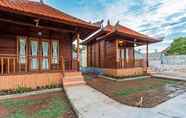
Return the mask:
<svg viewBox="0 0 186 118"><path fill-rule="evenodd" d="M42 69L49 69L49 43L48 41L42 42Z"/></svg>

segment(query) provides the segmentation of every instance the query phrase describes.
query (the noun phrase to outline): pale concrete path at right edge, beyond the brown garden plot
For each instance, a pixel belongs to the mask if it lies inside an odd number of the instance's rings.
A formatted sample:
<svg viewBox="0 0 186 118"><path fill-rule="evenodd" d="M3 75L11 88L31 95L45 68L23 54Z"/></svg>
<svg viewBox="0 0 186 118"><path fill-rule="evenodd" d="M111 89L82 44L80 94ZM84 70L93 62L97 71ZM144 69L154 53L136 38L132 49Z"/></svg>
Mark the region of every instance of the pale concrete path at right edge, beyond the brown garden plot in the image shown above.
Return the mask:
<svg viewBox="0 0 186 118"><path fill-rule="evenodd" d="M182 73L182 72L161 72L161 73L154 73L152 74L152 76L158 78L167 78L173 80L186 81L186 73Z"/></svg>

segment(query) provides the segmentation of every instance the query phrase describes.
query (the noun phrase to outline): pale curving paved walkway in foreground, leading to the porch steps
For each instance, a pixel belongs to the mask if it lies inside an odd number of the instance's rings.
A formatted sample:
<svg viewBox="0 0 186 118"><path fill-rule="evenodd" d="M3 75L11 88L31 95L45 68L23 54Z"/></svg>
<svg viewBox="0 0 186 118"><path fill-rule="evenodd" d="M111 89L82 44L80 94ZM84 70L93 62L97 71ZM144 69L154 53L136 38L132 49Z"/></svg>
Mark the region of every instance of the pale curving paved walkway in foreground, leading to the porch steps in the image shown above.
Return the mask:
<svg viewBox="0 0 186 118"><path fill-rule="evenodd" d="M65 91L79 118L186 118L186 93L154 108L136 108L87 85L69 86Z"/></svg>

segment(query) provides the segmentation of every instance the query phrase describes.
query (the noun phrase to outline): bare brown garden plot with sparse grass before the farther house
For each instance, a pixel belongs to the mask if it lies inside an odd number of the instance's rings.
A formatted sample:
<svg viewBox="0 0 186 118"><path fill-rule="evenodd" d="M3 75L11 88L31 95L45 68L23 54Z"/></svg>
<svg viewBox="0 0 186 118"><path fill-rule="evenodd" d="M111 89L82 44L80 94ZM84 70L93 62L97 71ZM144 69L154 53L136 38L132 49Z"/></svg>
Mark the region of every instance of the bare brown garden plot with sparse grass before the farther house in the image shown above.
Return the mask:
<svg viewBox="0 0 186 118"><path fill-rule="evenodd" d="M112 81L85 75L85 81L91 87L103 92L116 101L130 106L151 108L175 96L186 92L186 82L156 78L144 78L129 81Z"/></svg>

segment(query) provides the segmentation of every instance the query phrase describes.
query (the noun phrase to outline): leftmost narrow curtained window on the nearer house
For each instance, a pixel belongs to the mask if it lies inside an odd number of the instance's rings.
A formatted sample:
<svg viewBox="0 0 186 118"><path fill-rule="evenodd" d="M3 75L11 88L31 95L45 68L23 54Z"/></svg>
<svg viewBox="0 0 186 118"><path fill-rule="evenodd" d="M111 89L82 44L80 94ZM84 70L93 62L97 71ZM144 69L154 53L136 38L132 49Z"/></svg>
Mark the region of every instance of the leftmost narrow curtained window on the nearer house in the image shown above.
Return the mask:
<svg viewBox="0 0 186 118"><path fill-rule="evenodd" d="M19 63L26 63L26 37L19 37Z"/></svg>

